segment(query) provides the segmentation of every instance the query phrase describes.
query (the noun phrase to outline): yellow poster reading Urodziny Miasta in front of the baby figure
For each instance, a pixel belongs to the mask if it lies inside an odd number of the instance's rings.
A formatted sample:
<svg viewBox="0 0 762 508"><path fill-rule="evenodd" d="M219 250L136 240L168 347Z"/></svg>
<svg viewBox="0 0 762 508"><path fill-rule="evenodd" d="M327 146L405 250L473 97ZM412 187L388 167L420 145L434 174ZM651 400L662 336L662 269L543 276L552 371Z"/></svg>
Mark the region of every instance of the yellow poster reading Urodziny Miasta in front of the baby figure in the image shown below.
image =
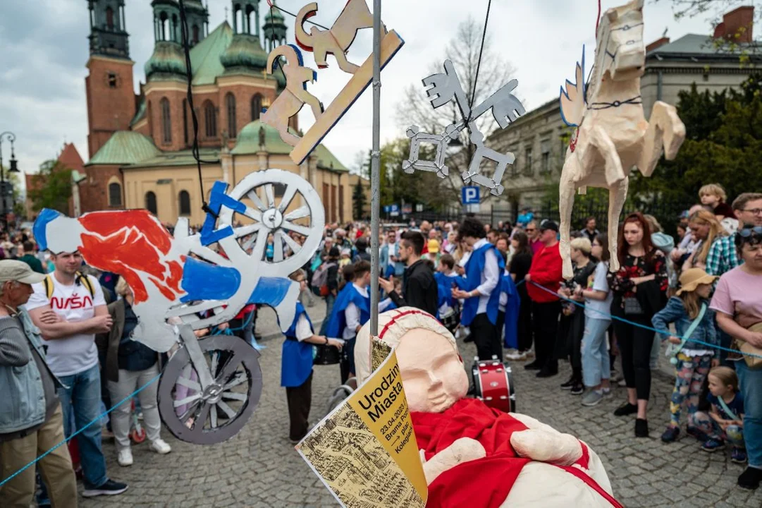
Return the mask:
<svg viewBox="0 0 762 508"><path fill-rule="evenodd" d="M370 378L296 450L347 508L423 508L426 478L397 357L374 340L373 365L383 353L386 359Z"/></svg>

